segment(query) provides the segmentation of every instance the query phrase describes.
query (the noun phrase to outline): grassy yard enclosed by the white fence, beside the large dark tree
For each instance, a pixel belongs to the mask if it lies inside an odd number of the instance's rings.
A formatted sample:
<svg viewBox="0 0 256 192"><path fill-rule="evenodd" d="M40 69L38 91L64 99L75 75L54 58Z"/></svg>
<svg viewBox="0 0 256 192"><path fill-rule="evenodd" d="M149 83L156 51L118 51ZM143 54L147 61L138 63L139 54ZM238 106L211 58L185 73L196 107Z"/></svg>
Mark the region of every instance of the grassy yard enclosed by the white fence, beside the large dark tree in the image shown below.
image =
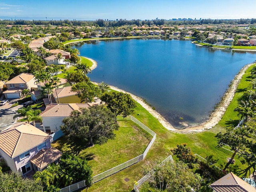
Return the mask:
<svg viewBox="0 0 256 192"><path fill-rule="evenodd" d="M94 147L80 148L79 157L85 158L92 166L93 175L100 174L112 167L122 164L144 152L152 136L131 120L118 120L120 128L115 131L116 138ZM73 144L66 143L64 137L52 143L52 146L62 152L75 151Z"/></svg>

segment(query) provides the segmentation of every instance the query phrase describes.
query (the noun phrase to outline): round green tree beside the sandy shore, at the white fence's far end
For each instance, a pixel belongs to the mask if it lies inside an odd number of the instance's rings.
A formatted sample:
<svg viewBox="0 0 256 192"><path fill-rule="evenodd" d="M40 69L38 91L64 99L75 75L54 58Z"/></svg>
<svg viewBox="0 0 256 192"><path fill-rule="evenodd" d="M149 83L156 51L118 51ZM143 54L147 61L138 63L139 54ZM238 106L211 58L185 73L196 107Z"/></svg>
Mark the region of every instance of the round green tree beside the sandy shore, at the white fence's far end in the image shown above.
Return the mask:
<svg viewBox="0 0 256 192"><path fill-rule="evenodd" d="M107 108L110 109L116 116L122 115L126 117L134 113L136 102L127 93L122 92L105 92L100 99L107 104Z"/></svg>

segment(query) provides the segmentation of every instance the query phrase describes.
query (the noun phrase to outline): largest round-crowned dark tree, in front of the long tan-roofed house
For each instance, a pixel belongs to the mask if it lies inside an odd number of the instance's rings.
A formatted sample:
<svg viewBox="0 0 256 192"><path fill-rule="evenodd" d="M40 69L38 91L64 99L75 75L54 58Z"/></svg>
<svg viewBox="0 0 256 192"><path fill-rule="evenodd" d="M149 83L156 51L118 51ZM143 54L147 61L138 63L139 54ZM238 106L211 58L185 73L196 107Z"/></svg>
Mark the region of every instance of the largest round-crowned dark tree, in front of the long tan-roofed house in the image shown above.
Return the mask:
<svg viewBox="0 0 256 192"><path fill-rule="evenodd" d="M64 118L61 130L68 140L95 143L105 143L115 137L114 130L118 130L114 114L104 106L82 108L81 112L73 111L70 117Z"/></svg>

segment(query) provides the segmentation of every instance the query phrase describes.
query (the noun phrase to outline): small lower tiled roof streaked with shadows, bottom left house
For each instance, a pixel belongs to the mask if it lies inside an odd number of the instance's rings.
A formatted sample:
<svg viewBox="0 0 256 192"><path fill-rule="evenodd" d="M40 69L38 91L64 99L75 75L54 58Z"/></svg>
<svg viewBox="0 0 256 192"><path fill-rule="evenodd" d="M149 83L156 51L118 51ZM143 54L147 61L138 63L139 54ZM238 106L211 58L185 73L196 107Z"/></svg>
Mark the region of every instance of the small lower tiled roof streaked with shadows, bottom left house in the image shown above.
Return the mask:
<svg viewBox="0 0 256 192"><path fill-rule="evenodd" d="M58 160L61 156L62 152L52 147L40 150L34 157L30 159L30 162L32 162L32 164L37 166L39 169L43 169L48 166L48 164Z"/></svg>

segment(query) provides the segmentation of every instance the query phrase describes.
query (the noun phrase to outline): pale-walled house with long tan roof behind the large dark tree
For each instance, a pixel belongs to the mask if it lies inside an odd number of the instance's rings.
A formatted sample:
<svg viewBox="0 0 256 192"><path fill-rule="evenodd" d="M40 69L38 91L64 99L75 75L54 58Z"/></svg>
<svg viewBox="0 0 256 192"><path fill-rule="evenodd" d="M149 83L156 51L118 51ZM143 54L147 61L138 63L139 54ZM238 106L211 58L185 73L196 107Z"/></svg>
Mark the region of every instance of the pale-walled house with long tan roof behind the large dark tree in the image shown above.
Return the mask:
<svg viewBox="0 0 256 192"><path fill-rule="evenodd" d="M42 125L36 124L36 127L44 132L58 132L62 125L62 120L69 117L73 110L79 110L80 108L89 108L94 103L69 103L69 104L49 104L46 109L40 114L42 117Z"/></svg>

